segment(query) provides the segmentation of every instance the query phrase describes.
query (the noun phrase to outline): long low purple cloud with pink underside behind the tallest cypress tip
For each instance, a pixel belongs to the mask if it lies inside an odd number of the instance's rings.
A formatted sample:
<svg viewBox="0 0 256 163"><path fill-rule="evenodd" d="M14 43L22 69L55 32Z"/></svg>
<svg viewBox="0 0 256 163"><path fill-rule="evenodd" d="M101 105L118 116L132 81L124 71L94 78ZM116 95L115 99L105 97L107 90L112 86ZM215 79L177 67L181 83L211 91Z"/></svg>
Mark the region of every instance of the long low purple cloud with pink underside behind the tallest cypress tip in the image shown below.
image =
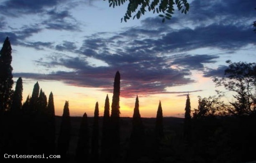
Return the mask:
<svg viewBox="0 0 256 163"><path fill-rule="evenodd" d="M162 59L152 59L160 61ZM162 60L164 61L164 60ZM149 62L149 61L148 61ZM46 62L37 61L47 67ZM172 93L165 90L166 87L175 85L184 85L194 82L185 77L190 75L187 70L165 69L162 64L156 64L154 67L146 66L145 63L122 63L112 66L93 67L86 60L79 57L69 57L68 59L58 59L58 61L49 62L49 65L64 66L73 69L71 72L58 71L51 74L29 74L19 73L15 76L32 78L37 80L56 80L69 85L80 87L98 87L105 91L113 92L113 79L117 70L121 73L122 96L131 97L134 94L159 94ZM145 64L144 68L141 67Z"/></svg>

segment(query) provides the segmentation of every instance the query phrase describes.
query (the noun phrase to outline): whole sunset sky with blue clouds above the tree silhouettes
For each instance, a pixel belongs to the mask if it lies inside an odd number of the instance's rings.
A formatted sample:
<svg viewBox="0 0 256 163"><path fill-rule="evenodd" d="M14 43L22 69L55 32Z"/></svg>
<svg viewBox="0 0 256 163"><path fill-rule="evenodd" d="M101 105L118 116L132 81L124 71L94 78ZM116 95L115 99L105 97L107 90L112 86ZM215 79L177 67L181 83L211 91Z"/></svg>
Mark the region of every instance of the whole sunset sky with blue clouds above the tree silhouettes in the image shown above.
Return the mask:
<svg viewBox="0 0 256 163"><path fill-rule="evenodd" d="M186 15L175 10L165 23L150 12L121 23L127 4L0 0L0 41L10 39L23 100L38 82L47 97L53 92L56 115L69 101L71 116L93 116L96 102L102 116L119 71L121 117L132 117L137 95L141 117L156 117L159 101L164 117L184 117L188 93L193 110L198 96L222 89L212 79L224 74L225 61L256 59L255 0L188 2Z"/></svg>

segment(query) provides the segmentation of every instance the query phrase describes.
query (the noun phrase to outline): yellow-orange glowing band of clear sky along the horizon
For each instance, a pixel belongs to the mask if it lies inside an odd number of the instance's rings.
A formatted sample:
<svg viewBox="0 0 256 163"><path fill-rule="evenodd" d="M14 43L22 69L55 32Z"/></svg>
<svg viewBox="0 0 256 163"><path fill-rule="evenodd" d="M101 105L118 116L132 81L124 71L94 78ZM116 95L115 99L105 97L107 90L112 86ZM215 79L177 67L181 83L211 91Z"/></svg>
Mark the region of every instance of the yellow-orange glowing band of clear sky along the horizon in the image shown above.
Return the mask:
<svg viewBox="0 0 256 163"><path fill-rule="evenodd" d="M201 78L202 76L197 76ZM209 82L207 80L203 80ZM33 86L36 82L31 82L23 79L23 102L26 100L28 94L32 94ZM113 93L103 92L98 88L85 88L75 87L61 82L38 82L40 89L42 89L47 100L50 92L54 95L55 115L61 116L63 113L63 107L65 101L69 101L69 112L71 116L82 117L84 112L89 117L93 117L95 104L99 103L99 114L103 116L105 98L108 94L110 100L110 113ZM181 87L181 86L180 86ZM186 87L186 86L185 86ZM187 86L191 87L191 86ZM194 84L194 87L199 87L198 84ZM202 87L202 86L201 86ZM180 91L179 87L173 87L172 91ZM184 86L183 86L184 89ZM195 89L195 88L193 88ZM188 89L189 90L189 89ZM197 108L197 96L202 92L196 92L189 94L191 102L191 110ZM141 117L156 117L156 111L161 101L164 117L184 117L184 108L187 97L185 95L178 96L179 94L153 94L149 96L142 96L138 94L139 98L139 110ZM133 109L135 105L136 95L131 98L122 97L120 92L120 117L132 117Z"/></svg>

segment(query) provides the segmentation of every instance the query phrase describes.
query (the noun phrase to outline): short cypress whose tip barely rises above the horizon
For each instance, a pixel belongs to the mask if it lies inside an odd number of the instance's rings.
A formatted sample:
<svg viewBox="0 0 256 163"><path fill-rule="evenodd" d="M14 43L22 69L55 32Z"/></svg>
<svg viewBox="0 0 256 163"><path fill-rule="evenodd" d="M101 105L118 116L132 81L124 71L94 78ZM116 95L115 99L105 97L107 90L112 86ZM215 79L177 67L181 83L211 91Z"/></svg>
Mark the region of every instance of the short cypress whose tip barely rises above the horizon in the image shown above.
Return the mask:
<svg viewBox="0 0 256 163"><path fill-rule="evenodd" d="M89 159L89 127L87 114L84 113L80 124L79 138L76 149L77 163L86 163Z"/></svg>

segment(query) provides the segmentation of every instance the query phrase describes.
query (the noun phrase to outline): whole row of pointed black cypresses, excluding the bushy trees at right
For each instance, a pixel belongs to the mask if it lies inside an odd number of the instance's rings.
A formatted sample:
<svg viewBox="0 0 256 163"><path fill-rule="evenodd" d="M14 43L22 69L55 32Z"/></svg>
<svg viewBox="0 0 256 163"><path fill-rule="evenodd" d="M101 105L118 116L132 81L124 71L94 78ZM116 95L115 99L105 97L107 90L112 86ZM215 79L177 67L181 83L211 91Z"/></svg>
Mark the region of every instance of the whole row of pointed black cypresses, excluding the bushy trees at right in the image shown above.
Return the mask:
<svg viewBox="0 0 256 163"><path fill-rule="evenodd" d="M69 114L69 102L64 104L63 115L56 138L55 109L53 93L49 94L47 102L46 94L40 89L38 82L33 87L31 97L28 95L22 104L23 83L19 77L15 91L12 90L12 56L9 38L5 39L0 51L0 153L19 154L60 154L63 160L67 160L67 151L71 138L71 119ZM99 108L95 104L93 128L89 134L87 114L84 113L79 130L79 138L76 149L77 162L112 162L117 163L121 159L120 147L120 73L115 74L113 85L113 99L111 104L108 95L105 99L105 109L102 124L102 139L99 143ZM187 96L185 113L185 138L189 141L190 124L190 102ZM110 114L111 113L111 114ZM164 137L163 112L161 102L156 114L156 125L154 131L154 151L160 146ZM133 111L132 130L127 153L126 162L136 162L145 153L145 128L139 112L139 100L136 97Z"/></svg>

